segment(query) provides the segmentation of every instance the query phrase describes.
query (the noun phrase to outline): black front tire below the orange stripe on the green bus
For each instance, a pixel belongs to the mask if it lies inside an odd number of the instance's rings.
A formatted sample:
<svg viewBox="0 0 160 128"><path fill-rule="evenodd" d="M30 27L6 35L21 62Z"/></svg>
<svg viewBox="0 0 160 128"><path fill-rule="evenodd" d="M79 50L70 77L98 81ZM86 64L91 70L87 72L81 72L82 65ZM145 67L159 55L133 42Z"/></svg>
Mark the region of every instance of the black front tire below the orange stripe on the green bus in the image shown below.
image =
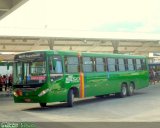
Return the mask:
<svg viewBox="0 0 160 128"><path fill-rule="evenodd" d="M73 105L74 105L74 93L73 93L73 90L70 89L68 92L67 106L73 107Z"/></svg>

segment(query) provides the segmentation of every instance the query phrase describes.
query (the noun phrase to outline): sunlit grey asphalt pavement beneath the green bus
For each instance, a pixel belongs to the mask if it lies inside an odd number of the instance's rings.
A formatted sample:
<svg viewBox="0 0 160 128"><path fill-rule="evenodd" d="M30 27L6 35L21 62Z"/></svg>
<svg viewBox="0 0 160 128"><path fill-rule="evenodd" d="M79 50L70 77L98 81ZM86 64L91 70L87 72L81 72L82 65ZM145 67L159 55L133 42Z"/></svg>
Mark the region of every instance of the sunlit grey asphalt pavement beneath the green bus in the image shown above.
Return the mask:
<svg viewBox="0 0 160 128"><path fill-rule="evenodd" d="M160 122L160 83L137 90L135 95L126 98L111 96L78 100L73 108L66 107L65 103L50 103L46 108L35 103L14 103L11 95L0 92L0 121L47 122L48 125L57 122L63 126L68 126L68 122L101 122L101 125Z"/></svg>

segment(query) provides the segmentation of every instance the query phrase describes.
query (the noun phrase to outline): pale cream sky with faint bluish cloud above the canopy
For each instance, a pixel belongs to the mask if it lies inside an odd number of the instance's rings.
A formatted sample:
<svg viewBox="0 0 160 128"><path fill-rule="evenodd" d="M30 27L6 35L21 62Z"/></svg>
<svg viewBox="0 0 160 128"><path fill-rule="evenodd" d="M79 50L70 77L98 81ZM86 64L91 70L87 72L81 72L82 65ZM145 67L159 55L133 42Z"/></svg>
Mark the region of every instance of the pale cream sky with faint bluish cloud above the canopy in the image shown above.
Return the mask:
<svg viewBox="0 0 160 128"><path fill-rule="evenodd" d="M0 28L160 34L160 0L29 0Z"/></svg>

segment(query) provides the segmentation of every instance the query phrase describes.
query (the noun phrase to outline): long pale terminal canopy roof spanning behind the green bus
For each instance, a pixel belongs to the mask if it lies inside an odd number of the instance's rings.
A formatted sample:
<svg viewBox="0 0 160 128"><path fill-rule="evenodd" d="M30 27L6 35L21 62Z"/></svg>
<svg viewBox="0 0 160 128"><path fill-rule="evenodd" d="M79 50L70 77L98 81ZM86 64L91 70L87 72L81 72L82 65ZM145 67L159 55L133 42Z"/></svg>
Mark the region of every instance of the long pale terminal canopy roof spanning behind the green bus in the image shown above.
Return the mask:
<svg viewBox="0 0 160 128"><path fill-rule="evenodd" d="M17 53L47 49L148 56L150 52L160 51L160 36L142 33L79 33L51 30L10 30L5 33L5 30L2 32L0 30L0 52Z"/></svg>

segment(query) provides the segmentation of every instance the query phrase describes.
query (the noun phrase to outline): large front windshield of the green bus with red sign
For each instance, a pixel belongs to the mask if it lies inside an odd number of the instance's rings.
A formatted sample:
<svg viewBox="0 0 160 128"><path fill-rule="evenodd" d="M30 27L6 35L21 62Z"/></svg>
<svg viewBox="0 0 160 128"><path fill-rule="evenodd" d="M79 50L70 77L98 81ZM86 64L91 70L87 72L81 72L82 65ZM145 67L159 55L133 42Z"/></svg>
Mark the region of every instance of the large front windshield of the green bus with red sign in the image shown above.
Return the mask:
<svg viewBox="0 0 160 128"><path fill-rule="evenodd" d="M46 80L44 58L29 58L14 63L14 84L41 84Z"/></svg>

